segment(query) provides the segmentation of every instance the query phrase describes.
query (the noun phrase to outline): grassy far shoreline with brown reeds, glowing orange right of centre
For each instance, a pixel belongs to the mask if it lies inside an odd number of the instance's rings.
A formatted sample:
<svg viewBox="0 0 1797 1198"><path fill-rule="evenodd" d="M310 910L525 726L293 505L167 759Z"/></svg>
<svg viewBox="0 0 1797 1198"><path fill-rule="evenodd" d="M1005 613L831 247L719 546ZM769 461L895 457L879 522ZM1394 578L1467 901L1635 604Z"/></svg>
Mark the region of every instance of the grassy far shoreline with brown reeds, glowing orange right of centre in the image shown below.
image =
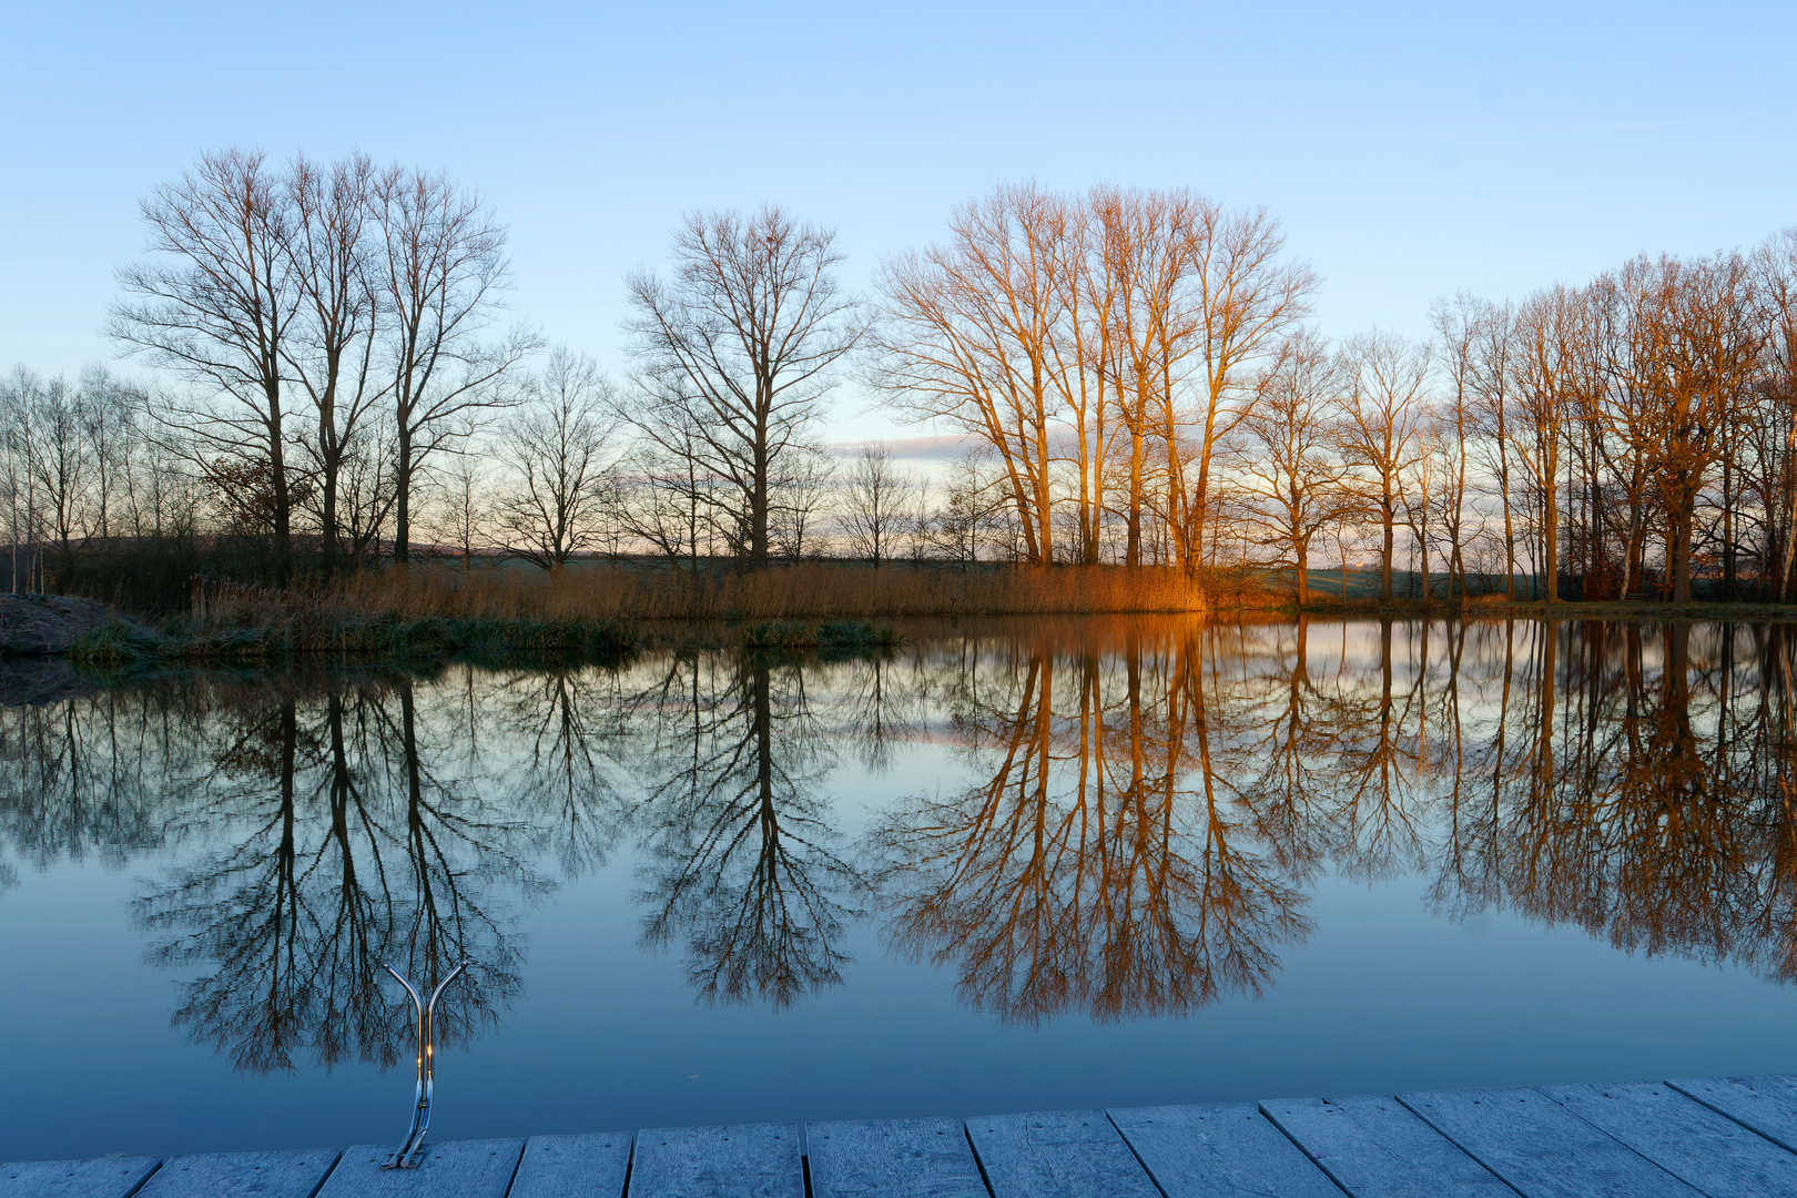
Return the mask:
<svg viewBox="0 0 1797 1198"><path fill-rule="evenodd" d="M1186 616L1209 621L1308 618L1745 620L1797 621L1790 603L1466 603L1263 589L1240 575L1168 569L992 568L807 562L767 571L685 575L591 568L561 575L412 568L331 587L203 584L194 611L160 625L113 616L75 639L81 665L270 663L483 657L609 659L649 647L870 652L904 641L893 623L985 618Z"/></svg>

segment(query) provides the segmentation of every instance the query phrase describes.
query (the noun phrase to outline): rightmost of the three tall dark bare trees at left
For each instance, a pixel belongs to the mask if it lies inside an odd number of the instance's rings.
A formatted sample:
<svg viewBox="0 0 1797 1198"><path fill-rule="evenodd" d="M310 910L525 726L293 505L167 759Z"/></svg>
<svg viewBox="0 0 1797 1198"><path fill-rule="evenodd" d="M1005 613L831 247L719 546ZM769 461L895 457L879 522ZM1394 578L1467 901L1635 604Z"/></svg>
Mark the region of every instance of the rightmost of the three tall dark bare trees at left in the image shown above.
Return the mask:
<svg viewBox="0 0 1797 1198"><path fill-rule="evenodd" d="M541 339L525 327L487 338L503 311L510 262L505 226L480 196L397 165L370 190L395 422L394 560L404 562L419 469L453 444L462 422L516 399L501 383Z"/></svg>

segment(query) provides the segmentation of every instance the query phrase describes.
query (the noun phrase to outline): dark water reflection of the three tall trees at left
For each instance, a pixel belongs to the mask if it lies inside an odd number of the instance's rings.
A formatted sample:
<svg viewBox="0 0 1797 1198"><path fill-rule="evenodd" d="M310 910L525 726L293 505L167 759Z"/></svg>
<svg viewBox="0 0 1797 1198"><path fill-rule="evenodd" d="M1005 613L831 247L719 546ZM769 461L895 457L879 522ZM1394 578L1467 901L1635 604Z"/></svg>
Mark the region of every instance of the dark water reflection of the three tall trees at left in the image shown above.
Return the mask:
<svg viewBox="0 0 1797 1198"><path fill-rule="evenodd" d="M138 900L149 959L198 973L174 1022L239 1069L390 1065L410 1056L415 979L478 968L438 1008L438 1040L469 1040L518 993L505 893L537 882L523 828L431 771L413 683L331 686L232 708L176 823L219 848Z"/></svg>

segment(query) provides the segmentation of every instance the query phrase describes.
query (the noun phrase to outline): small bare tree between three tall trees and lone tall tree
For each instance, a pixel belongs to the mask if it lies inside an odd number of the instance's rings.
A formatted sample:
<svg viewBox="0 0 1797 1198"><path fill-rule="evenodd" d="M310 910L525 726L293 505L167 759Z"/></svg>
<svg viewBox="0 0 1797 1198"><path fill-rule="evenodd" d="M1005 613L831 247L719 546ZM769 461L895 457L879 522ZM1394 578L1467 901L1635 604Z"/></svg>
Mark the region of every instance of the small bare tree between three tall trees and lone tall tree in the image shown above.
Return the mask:
<svg viewBox="0 0 1797 1198"><path fill-rule="evenodd" d="M543 375L530 381L523 408L505 422L500 451L512 472L501 521L514 555L557 571L593 542L613 404L598 363L566 347L557 347Z"/></svg>

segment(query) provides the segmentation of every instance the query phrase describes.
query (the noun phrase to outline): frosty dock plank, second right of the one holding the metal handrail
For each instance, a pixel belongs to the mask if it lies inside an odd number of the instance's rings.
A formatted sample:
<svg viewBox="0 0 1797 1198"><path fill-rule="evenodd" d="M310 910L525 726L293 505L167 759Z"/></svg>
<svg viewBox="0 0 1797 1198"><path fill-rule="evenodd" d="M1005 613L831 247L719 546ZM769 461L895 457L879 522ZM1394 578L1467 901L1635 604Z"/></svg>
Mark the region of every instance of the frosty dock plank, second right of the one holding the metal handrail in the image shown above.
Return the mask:
<svg viewBox="0 0 1797 1198"><path fill-rule="evenodd" d="M631 1198L805 1198L796 1123L636 1133Z"/></svg>

